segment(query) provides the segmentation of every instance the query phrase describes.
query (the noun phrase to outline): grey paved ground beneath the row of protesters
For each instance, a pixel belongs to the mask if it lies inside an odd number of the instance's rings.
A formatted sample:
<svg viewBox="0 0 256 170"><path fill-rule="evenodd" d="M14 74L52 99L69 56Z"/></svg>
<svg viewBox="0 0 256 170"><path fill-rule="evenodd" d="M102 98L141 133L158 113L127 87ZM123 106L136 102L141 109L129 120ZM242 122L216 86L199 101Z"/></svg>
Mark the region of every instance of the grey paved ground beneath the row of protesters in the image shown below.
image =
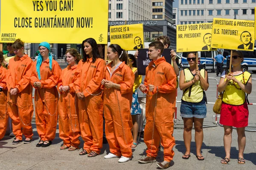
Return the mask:
<svg viewBox="0 0 256 170"><path fill-rule="evenodd" d="M65 63L64 63L65 64ZM61 63L61 68L66 66ZM220 79L216 77L215 73L209 73L209 77ZM253 77L256 77L253 74ZM208 102L215 102L216 99L216 81L209 80L209 89L206 91ZM256 84L256 81L255 81ZM256 103L256 85L253 82L253 91L249 95L250 103ZM178 90L177 100L180 101L182 91ZM246 147L244 150L245 164L238 164L238 144L237 133L233 130L233 139L231 147L231 160L229 164L221 164L221 159L224 158L224 144L223 134L224 130L219 124L215 125L215 114L212 111L212 104L207 104L207 118L204 119L204 143L201 148L204 161L196 159L195 150L195 131L192 130L191 142L191 157L184 160L181 157L186 149L183 142L183 125L180 117L180 103L177 103L177 124L175 125L174 137L176 145L173 148L175 152L172 161L171 170L255 170L256 169L256 132L246 131ZM249 125L256 126L256 106L249 105ZM219 120L219 118L218 118ZM139 164L138 159L145 156L146 145L143 139L133 150L133 157L131 161L125 163L118 163L118 158L104 159L103 156L109 153L108 144L103 144L102 152L99 156L88 158L79 156L80 150L68 151L60 150L62 140L58 137L58 130L53 144L49 147L35 147L38 143L38 133L36 131L35 123L33 126L33 139L30 144L12 144L13 138L5 136L0 141L0 170L77 170L77 169L93 169L93 170L154 170L158 169L156 162L149 164ZM58 128L57 128L58 129ZM250 129L255 130L255 127ZM256 130L255 130L256 131ZM81 139L80 147L83 146ZM160 149L157 156L157 162L163 161L163 148Z"/></svg>

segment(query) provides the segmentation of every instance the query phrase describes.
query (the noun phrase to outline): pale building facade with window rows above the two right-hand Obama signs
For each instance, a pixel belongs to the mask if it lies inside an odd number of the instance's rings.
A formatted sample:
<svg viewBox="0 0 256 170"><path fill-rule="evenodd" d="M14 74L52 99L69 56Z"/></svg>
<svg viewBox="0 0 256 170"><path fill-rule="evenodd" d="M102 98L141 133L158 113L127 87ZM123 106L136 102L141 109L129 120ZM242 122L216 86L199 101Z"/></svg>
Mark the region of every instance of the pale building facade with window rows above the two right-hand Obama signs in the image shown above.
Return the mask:
<svg viewBox="0 0 256 170"><path fill-rule="evenodd" d="M213 18L254 20L256 0L179 0L178 24L211 23Z"/></svg>

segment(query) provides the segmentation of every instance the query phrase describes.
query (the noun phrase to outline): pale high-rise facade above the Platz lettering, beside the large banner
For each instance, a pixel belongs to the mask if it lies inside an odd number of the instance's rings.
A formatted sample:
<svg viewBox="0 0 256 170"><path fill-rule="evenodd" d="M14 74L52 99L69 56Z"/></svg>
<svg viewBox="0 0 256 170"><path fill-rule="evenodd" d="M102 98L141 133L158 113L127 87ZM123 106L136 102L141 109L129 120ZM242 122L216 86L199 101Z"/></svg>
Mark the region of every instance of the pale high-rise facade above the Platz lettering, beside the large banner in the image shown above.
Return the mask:
<svg viewBox="0 0 256 170"><path fill-rule="evenodd" d="M109 0L109 21L151 19L151 0Z"/></svg>

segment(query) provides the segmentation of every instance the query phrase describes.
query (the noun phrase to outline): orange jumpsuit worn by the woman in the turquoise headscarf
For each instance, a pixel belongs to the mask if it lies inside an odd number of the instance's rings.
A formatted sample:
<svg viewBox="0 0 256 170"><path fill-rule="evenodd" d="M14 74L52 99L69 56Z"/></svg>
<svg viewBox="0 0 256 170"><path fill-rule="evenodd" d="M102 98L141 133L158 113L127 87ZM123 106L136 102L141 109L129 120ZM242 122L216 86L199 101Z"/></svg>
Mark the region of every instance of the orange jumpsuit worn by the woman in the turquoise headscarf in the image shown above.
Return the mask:
<svg viewBox="0 0 256 170"><path fill-rule="evenodd" d="M36 61L32 66L31 84L41 82L41 88L35 88L35 123L40 140L52 141L55 138L58 121L58 84L61 77L61 68L52 59L52 71L49 68L49 59L40 66L41 80L38 79Z"/></svg>

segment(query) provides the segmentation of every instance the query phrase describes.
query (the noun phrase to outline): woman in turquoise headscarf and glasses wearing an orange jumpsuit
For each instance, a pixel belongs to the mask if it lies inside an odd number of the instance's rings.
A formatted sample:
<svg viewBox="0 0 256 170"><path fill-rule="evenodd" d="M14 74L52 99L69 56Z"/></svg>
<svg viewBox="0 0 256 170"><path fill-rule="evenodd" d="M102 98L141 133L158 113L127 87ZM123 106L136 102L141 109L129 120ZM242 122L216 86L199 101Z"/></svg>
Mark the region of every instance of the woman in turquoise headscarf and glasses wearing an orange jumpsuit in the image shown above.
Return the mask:
<svg viewBox="0 0 256 170"><path fill-rule="evenodd" d="M33 63L31 84L35 88L35 123L40 137L36 147L48 147L55 138L58 120L58 85L61 68L49 53L48 42L41 42Z"/></svg>

